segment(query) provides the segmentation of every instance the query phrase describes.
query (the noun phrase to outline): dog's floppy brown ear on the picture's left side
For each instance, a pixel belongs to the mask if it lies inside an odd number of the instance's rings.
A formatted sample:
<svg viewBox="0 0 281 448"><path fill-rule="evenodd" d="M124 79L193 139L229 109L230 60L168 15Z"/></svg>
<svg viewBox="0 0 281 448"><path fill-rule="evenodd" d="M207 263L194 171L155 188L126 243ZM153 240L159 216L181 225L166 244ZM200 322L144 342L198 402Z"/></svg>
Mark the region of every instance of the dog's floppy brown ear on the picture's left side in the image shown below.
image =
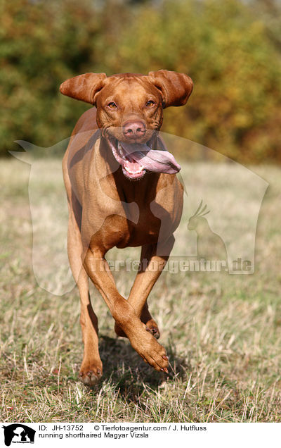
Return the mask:
<svg viewBox="0 0 281 448"><path fill-rule="evenodd" d="M84 73L60 85L60 93L86 103L95 104L96 94L103 88L105 73Z"/></svg>

